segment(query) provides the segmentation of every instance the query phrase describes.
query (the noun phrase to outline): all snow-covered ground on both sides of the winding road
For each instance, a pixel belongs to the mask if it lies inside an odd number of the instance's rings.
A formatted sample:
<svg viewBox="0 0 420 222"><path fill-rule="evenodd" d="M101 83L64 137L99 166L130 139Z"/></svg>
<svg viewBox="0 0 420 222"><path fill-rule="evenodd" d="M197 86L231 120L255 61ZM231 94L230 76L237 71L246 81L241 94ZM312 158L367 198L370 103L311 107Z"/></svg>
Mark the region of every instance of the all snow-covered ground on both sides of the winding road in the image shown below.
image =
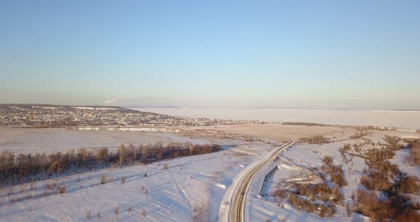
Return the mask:
<svg viewBox="0 0 420 222"><path fill-rule="evenodd" d="M241 128L241 126L235 126ZM321 166L329 155L334 164L343 164L347 186L342 187L345 203L359 188L359 179L366 168L364 159L354 157L345 163L339 152L344 144L362 142L350 139L355 129L339 127L306 127L267 125L268 128L187 127L179 132L118 132L68 129L0 129L0 150L16 154L51 153L68 149L101 147L115 148L120 144L192 142L221 144L224 150L211 154L162 160L152 164L112 167L83 174L59 176L34 184L4 186L0 189L0 221L219 221L226 218L234 181L243 169L258 162L280 145L280 140L295 140L303 135L325 134L331 143L295 144L280 152L275 162L263 168L247 195L246 221L363 221L364 216L352 213L347 217L345 207L337 206L332 218L320 218L317 213L298 211L287 201L278 203L271 196L284 179L300 179L313 166ZM261 130L260 130L261 129ZM263 137L264 129L269 129ZM293 135L275 137L293 129ZM252 132L247 134L244 132ZM258 132L257 132L258 131ZM261 132L260 132L261 131ZM241 135L245 134L243 137ZM372 131L364 136L384 143L385 134L396 137L419 137L415 132ZM253 141L249 140L252 136ZM261 138L261 140L260 140ZM278 139L280 138L280 139ZM259 142L258 142L259 141ZM273 143L271 143L273 142ZM372 148L372 147L364 147ZM390 161L401 171L420 176L418 167L404 163L407 151L401 149ZM164 164L168 169L164 169ZM263 179L275 166L280 169L269 178L263 197L259 196ZM145 176L147 174L147 176ZM102 176L106 182L101 183ZM121 178L125 176L125 183ZM54 185L55 184L55 185ZM51 187L52 186L52 187ZM64 186L64 194L57 187ZM116 212L118 210L118 212Z"/></svg>

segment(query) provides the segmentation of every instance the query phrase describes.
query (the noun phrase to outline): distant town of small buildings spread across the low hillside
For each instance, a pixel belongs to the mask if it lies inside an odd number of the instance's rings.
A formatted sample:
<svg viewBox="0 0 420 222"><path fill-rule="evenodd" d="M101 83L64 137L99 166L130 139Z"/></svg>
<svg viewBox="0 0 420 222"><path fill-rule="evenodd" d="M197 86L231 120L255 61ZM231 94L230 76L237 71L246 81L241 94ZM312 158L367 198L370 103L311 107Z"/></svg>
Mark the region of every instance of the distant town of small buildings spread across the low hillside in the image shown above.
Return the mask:
<svg viewBox="0 0 420 222"><path fill-rule="evenodd" d="M208 126L266 123L174 117L122 107L68 105L0 105L1 126L61 127L80 125Z"/></svg>

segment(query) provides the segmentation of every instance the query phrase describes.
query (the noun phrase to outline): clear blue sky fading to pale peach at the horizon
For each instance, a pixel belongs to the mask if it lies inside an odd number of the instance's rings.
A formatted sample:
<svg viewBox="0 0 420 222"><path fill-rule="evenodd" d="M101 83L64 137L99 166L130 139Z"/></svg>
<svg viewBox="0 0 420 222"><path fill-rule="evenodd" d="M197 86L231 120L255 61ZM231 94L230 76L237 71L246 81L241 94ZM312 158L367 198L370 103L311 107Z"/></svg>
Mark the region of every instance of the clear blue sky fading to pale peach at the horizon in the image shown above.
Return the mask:
<svg viewBox="0 0 420 222"><path fill-rule="evenodd" d="M420 109L420 1L0 1L0 103Z"/></svg>

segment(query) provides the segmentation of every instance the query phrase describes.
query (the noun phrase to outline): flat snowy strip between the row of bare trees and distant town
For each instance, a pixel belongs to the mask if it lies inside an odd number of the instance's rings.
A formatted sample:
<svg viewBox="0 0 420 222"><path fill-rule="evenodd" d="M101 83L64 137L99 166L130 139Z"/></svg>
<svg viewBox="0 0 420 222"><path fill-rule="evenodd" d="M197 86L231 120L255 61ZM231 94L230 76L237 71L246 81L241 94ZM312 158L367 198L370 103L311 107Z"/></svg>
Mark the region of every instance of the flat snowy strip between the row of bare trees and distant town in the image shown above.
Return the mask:
<svg viewBox="0 0 420 222"><path fill-rule="evenodd" d="M213 142L211 138L190 138L171 132L125 132L75 129L19 129L0 128L0 152L15 154L66 152L68 149L109 149L120 144L148 144L162 142Z"/></svg>

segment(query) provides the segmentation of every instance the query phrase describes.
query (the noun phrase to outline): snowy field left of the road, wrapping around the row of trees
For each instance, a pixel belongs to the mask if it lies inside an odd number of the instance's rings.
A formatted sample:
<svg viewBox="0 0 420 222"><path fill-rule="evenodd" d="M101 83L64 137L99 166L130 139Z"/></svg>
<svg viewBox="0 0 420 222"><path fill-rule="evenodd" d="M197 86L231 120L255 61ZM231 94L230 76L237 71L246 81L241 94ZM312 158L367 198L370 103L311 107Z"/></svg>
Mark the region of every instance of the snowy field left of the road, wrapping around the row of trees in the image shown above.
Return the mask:
<svg viewBox="0 0 420 222"><path fill-rule="evenodd" d="M89 211L95 221L217 221L221 199L234 176L273 149L243 139L191 139L170 133L4 129L2 135L15 146L8 150L22 153L88 147L85 144L110 147L127 142L186 141L217 142L224 150L7 186L0 190L0 221L86 221ZM103 175L105 184L100 183ZM127 178L125 183L122 176ZM56 186L50 190L48 184ZM58 186L66 187L65 194L58 194Z"/></svg>

